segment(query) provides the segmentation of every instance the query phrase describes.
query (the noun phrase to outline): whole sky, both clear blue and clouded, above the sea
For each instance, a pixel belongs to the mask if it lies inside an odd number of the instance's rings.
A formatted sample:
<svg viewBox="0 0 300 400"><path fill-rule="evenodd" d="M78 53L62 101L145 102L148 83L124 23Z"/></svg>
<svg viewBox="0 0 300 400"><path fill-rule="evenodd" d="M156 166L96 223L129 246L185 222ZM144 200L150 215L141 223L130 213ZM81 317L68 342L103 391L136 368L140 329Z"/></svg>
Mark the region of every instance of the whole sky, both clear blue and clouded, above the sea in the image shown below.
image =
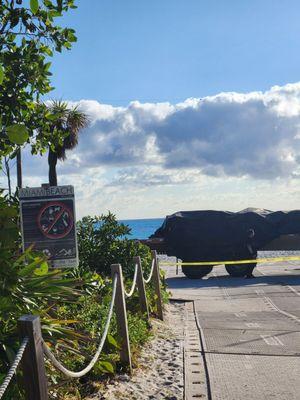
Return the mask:
<svg viewBox="0 0 300 400"><path fill-rule="evenodd" d="M299 208L299 1L77 3L49 98L91 121L58 167L78 217ZM46 159L24 174L46 182Z"/></svg>

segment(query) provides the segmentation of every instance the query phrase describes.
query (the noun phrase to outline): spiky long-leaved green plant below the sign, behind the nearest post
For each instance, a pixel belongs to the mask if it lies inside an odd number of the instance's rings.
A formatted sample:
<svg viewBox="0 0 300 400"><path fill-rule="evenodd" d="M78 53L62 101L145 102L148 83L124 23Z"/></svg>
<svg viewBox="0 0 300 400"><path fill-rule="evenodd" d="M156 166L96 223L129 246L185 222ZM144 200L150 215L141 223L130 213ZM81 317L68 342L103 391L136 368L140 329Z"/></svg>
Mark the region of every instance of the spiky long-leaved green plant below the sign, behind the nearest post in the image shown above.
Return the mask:
<svg viewBox="0 0 300 400"><path fill-rule="evenodd" d="M24 261L27 260L25 263ZM68 321L57 319L56 305L69 303L79 296L78 282L61 271L48 271L48 264L28 250L6 268L0 269L0 376L5 376L19 346L17 320L21 315L38 314L43 334L50 341L77 339L78 333ZM12 396L14 393L14 397ZM7 398L17 398L12 386Z"/></svg>

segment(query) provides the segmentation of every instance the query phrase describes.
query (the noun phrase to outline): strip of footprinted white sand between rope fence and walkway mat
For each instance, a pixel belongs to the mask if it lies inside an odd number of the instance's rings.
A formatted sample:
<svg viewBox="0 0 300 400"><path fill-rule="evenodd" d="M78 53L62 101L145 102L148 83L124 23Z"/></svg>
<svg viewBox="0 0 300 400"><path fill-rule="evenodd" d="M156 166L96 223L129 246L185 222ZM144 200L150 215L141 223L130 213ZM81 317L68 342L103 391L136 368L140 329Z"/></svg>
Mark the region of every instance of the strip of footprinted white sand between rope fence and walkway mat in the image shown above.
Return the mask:
<svg viewBox="0 0 300 400"><path fill-rule="evenodd" d="M131 377L119 375L90 399L183 399L184 305L169 304L165 321L153 321L155 337L145 345Z"/></svg>

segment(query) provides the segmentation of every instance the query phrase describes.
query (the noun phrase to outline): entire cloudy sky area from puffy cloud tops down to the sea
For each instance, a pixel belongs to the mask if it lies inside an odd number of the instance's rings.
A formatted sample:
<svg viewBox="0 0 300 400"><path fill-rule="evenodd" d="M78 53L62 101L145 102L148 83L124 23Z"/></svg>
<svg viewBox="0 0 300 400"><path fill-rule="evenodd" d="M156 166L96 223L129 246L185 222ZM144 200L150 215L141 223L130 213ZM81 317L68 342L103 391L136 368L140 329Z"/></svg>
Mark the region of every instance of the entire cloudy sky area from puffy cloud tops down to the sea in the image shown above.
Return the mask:
<svg viewBox="0 0 300 400"><path fill-rule="evenodd" d="M76 182L79 215L298 207L300 82L178 104L70 103L91 120L58 167L60 183ZM24 172L45 182L46 159L25 153Z"/></svg>

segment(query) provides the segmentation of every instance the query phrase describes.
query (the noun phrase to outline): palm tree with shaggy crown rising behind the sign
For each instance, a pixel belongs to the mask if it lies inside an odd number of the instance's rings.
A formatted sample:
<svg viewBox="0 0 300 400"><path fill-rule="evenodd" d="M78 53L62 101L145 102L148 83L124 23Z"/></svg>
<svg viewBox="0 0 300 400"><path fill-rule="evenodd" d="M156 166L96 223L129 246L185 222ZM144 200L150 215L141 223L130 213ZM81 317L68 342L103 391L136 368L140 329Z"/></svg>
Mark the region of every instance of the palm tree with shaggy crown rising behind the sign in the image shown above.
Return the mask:
<svg viewBox="0 0 300 400"><path fill-rule="evenodd" d="M62 144L57 144L54 149L49 147L48 153L49 184L57 186L57 160L65 160L67 158L66 151L77 146L78 135L89 125L89 119L84 112L78 110L77 106L69 108L68 103L64 101L52 101L49 112L55 117L51 131L64 133Z"/></svg>

